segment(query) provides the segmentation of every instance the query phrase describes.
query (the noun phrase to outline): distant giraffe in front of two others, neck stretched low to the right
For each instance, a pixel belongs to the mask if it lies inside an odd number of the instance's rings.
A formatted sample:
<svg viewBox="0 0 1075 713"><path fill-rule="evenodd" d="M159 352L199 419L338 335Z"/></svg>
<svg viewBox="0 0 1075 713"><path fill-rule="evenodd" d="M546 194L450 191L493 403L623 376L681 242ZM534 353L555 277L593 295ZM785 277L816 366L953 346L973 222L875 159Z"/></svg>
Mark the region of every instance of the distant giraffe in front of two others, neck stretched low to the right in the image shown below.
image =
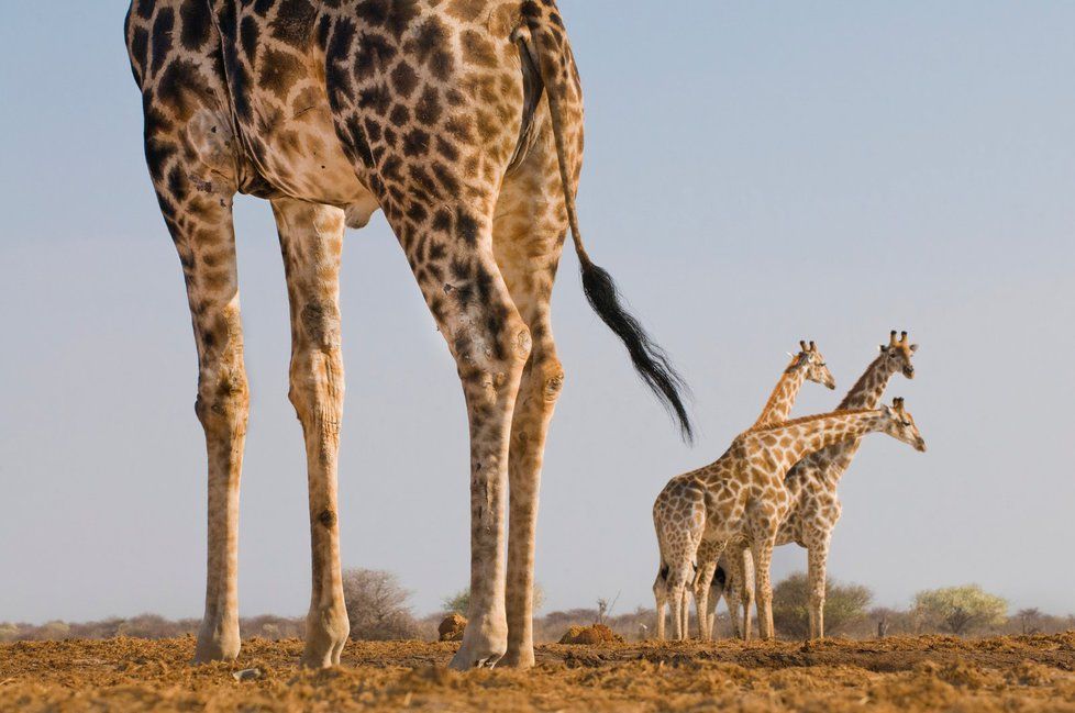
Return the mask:
<svg viewBox="0 0 1075 713"><path fill-rule="evenodd" d="M740 434L714 463L673 478L653 505L653 523L672 603L675 638L685 638L681 609L695 561L717 561L727 544L743 537L751 544L756 567L762 636L773 634L769 564L779 525L791 505L784 478L793 465L827 446L886 433L926 450L915 420L896 399L891 406L833 411ZM708 588L697 601L699 621L706 616ZM661 605L661 602L658 602ZM701 631L705 633L706 628ZM657 636L664 637L663 605Z"/></svg>

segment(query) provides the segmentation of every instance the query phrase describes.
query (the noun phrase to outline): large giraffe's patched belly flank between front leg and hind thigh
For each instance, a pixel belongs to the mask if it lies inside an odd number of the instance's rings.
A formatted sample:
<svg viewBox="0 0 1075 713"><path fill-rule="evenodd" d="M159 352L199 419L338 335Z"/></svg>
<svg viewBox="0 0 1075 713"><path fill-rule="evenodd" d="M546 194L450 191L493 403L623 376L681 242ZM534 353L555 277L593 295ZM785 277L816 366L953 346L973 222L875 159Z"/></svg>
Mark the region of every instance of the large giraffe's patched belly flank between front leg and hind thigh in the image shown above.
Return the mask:
<svg viewBox="0 0 1075 713"><path fill-rule="evenodd" d="M365 205L372 212L372 193L333 123L324 53L317 43L318 9L304 0L217 4L228 90L246 160L275 192L341 208Z"/></svg>

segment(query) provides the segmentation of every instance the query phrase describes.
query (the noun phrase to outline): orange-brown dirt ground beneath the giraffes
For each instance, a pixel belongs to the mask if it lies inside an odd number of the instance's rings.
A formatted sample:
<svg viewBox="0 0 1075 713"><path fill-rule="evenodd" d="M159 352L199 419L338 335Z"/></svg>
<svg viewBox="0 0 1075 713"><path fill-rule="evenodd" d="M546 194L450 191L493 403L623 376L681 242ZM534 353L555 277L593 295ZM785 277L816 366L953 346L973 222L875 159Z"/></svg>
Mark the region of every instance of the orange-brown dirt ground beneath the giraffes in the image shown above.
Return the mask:
<svg viewBox="0 0 1075 713"><path fill-rule="evenodd" d="M1075 711L1075 632L801 643L545 645L532 671L445 668L458 644L298 640L192 667L191 637L0 645L0 711ZM234 673L258 669L246 680Z"/></svg>

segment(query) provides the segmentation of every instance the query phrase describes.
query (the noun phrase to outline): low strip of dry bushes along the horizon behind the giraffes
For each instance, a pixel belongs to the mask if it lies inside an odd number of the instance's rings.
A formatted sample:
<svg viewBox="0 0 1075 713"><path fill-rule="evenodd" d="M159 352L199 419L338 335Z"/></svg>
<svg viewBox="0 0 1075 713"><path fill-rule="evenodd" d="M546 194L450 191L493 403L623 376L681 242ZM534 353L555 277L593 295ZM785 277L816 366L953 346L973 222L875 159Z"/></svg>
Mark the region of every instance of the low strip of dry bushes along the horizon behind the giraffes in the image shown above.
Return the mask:
<svg viewBox="0 0 1075 713"><path fill-rule="evenodd" d="M802 638L808 633L808 589L802 573L791 575L774 588L773 616L782 638ZM444 599L444 611L417 620L409 604L410 592L395 575L380 570L350 569L344 573L344 597L351 619L351 637L358 640L421 639L437 640L439 625L447 614L465 614L469 592L463 590ZM534 598L543 599L534 588ZM1075 615L1056 616L1038 608L1019 610L1006 616L1007 602L984 592L979 587L951 587L920 592L907 610L878 606L868 609L871 591L862 586L830 580L825 595L825 631L851 638L883 638L946 633L967 635L1059 634L1075 631ZM603 603L603 606L602 606ZM535 609L536 609L535 606ZM640 606L633 612L614 614L614 600L597 600L596 608L550 612L534 619L534 640L558 642L573 626L605 624L624 640L653 636L656 614ZM694 606L691 605L691 612ZM694 616L691 616L694 623ZM107 639L126 636L142 639L176 638L195 635L196 619L168 620L156 614L129 619L106 619L71 623L52 621L45 624L0 622L0 643L16 640ZM302 617L263 615L244 619L240 631L246 639L281 640L302 638ZM718 615L718 635L730 636L727 615Z"/></svg>

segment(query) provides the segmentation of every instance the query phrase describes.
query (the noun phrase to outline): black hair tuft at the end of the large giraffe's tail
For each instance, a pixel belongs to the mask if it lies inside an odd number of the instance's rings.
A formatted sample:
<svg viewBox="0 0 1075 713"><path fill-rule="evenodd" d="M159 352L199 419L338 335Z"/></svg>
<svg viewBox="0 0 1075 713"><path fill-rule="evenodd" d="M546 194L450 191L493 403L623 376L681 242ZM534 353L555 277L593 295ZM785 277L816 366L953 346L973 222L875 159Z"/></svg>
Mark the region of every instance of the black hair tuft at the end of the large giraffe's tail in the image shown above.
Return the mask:
<svg viewBox="0 0 1075 713"><path fill-rule="evenodd" d="M654 344L638 319L623 308L612 276L590 263L588 258L579 257L583 291L586 292L590 307L623 342L639 376L679 422L683 439L691 443L694 426L683 404L684 394L688 391L683 377L676 372L664 349Z"/></svg>

